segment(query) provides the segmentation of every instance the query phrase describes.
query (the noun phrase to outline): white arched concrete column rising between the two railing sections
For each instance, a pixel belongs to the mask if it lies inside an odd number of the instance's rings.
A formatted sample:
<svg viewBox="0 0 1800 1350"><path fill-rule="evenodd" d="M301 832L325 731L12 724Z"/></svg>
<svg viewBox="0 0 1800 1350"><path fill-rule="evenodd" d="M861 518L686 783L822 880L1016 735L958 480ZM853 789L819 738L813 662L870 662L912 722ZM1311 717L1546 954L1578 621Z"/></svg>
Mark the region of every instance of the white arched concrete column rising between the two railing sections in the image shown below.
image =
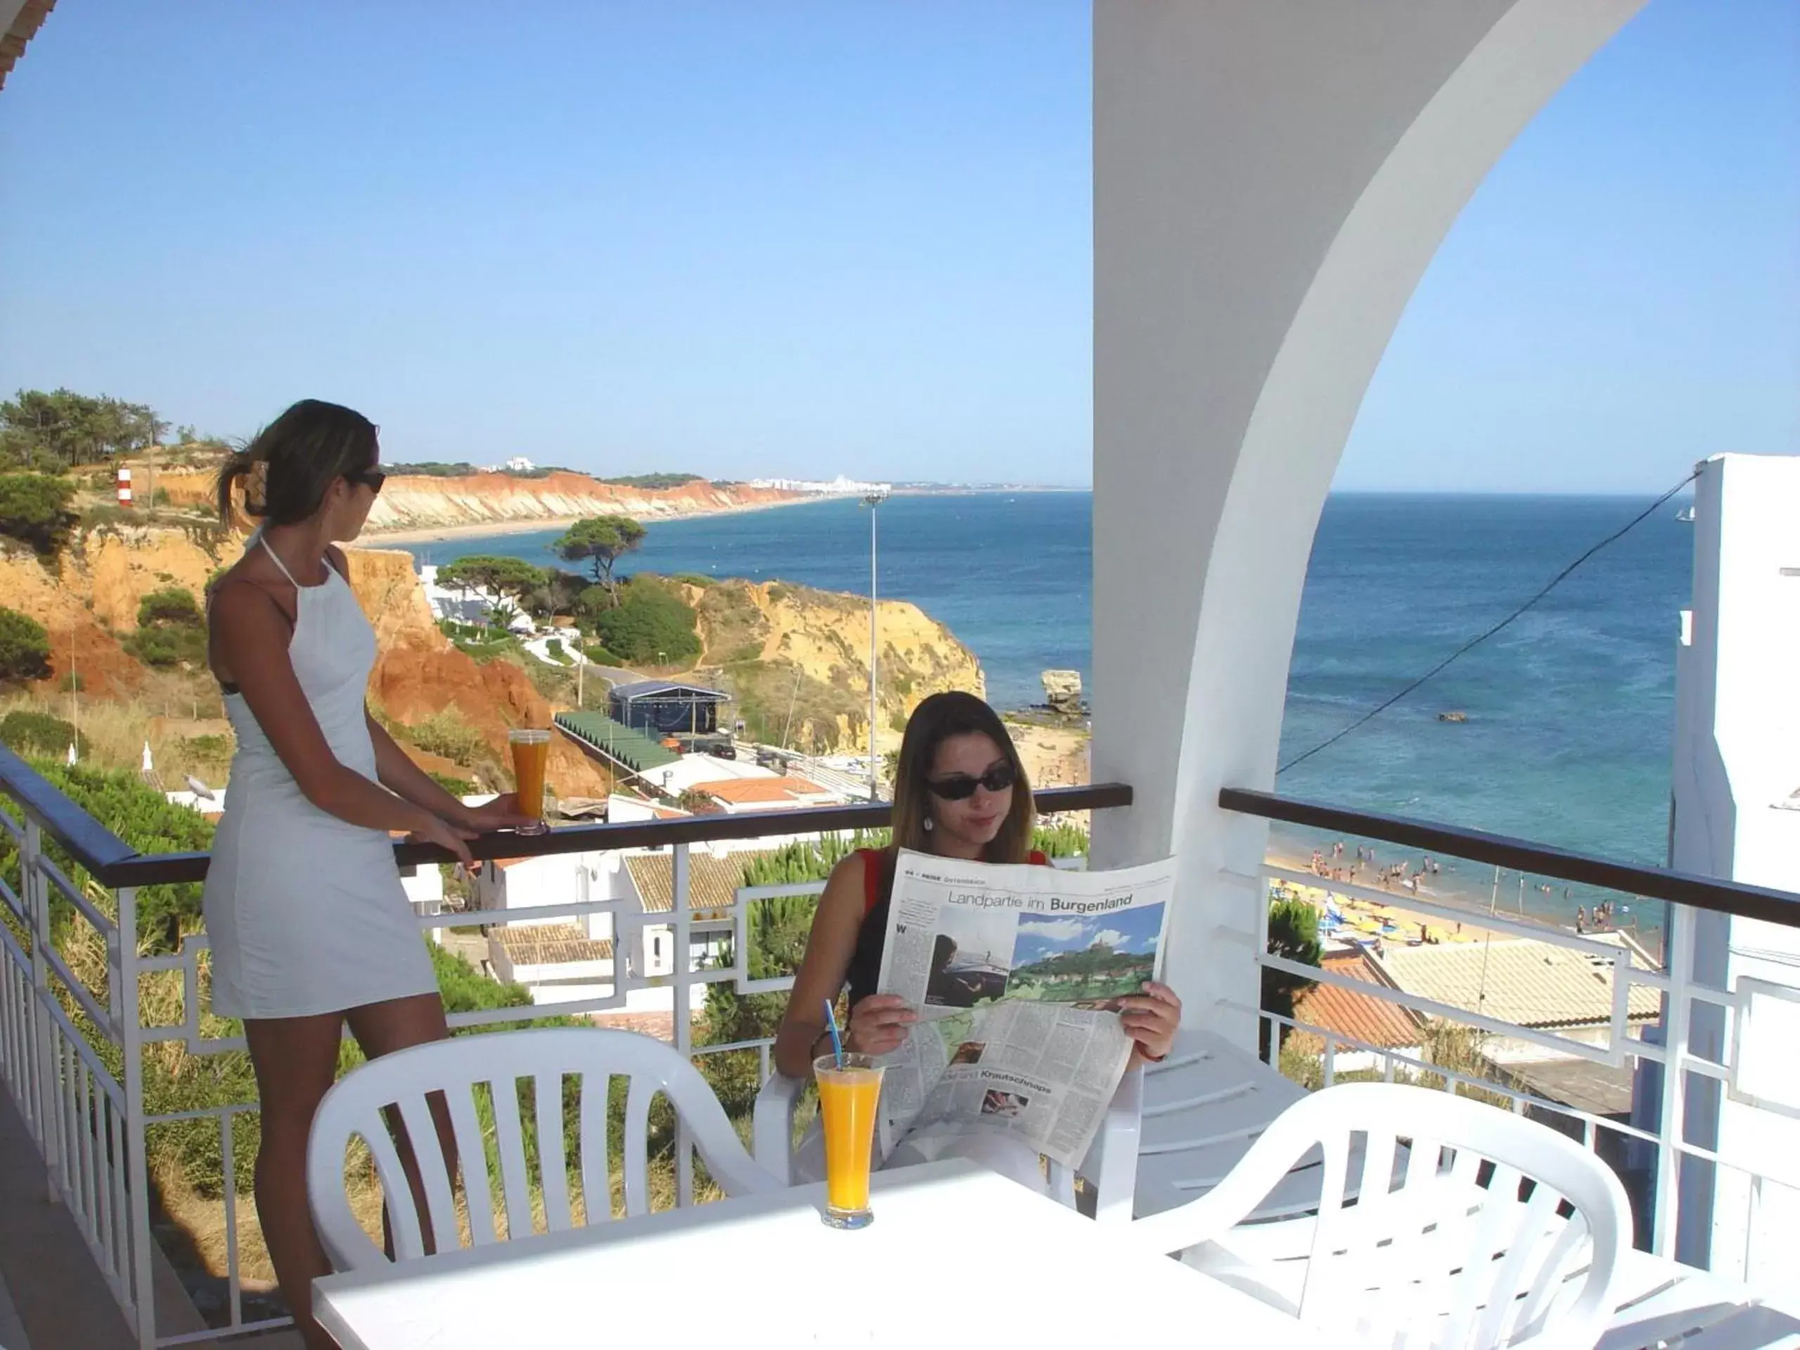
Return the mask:
<svg viewBox="0 0 1800 1350"><path fill-rule="evenodd" d="M1251 875L1350 423L1456 212L1643 0L1094 2L1094 859L1174 853L1188 1019L1255 1044Z"/></svg>

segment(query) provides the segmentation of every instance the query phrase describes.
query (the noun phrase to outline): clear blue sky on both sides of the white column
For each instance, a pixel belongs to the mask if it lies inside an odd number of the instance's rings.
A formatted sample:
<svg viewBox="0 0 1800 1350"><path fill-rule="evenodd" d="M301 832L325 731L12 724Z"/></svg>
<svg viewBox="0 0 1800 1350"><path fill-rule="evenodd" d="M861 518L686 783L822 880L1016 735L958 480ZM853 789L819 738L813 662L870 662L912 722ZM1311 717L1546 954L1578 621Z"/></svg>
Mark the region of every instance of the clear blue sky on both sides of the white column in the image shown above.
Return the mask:
<svg viewBox="0 0 1800 1350"><path fill-rule="evenodd" d="M392 459L1085 482L1064 0L67 0L0 92L0 391ZM1800 448L1800 5L1651 0L1433 263L1345 488Z"/></svg>

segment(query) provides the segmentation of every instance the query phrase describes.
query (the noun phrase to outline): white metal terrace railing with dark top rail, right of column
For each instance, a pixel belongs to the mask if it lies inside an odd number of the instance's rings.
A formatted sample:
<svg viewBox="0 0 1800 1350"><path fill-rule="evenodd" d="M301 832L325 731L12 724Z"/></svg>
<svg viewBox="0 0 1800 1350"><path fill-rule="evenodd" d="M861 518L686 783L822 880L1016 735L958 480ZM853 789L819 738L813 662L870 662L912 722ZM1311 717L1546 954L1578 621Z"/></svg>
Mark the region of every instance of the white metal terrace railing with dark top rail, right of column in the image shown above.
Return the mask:
<svg viewBox="0 0 1800 1350"><path fill-rule="evenodd" d="M1280 1044L1280 1030L1305 1031L1323 1042L1321 1085L1332 1085L1341 1069L1339 1055L1352 1053L1359 1064L1373 1060L1379 1073L1388 1082L1406 1082L1431 1076L1445 1091L1478 1089L1481 1093L1505 1098L1516 1112L1532 1112L1546 1118L1546 1123L1562 1121L1566 1132L1579 1136L1586 1147L1606 1156L1602 1139L1611 1134L1622 1143L1624 1154L1649 1154L1652 1161L1645 1168L1645 1186L1638 1193L1649 1201L1649 1249L1658 1256L1678 1256L1676 1240L1681 1231L1683 1159L1710 1165L1737 1174L1744 1179L1750 1195L1750 1213L1760 1211L1766 1188L1778 1188L1800 1199L1800 1157L1780 1150L1748 1156L1742 1150L1712 1148L1690 1141L1688 1118L1696 1109L1697 1093L1730 1096L1771 1114L1793 1118L1800 1114L1795 1100L1775 1102L1757 1098L1748 1091L1741 1075L1744 1073L1744 1033L1751 1021L1751 1008L1766 997L1795 999L1789 990L1777 990L1753 979L1735 981L1733 988L1723 988L1696 979L1694 970L1694 905L1683 904L1678 896L1690 895L1703 900L1710 911L1737 913L1750 918L1773 920L1789 927L1800 927L1800 896L1762 887L1715 882L1710 878L1681 877L1624 864L1607 864L1595 859L1546 850L1519 841L1507 841L1476 832L1458 832L1444 826L1424 826L1391 817L1343 812L1336 808L1318 808L1310 803L1296 803L1267 794L1228 790L1220 805L1246 814L1285 819L1296 824L1314 824L1328 830L1348 842L1375 841L1402 844L1415 851L1427 851L1438 859L1469 859L1481 864L1528 871L1535 877L1577 882L1584 886L1607 887L1615 895L1634 900L1638 911L1643 900L1661 900L1669 905L1665 932L1669 934L1669 952L1665 968L1645 968L1631 959L1631 949L1620 943L1600 941L1544 922L1532 922L1507 913L1490 913L1469 905L1445 904L1429 895L1397 895L1372 886L1345 880L1328 880L1310 871L1285 868L1267 862L1258 875L1228 873L1222 880L1247 895L1255 895L1253 904L1246 904L1244 914L1255 914L1255 927L1244 931L1220 932L1220 940L1240 943L1247 949L1260 968L1280 970L1298 979L1332 985L1361 997L1411 1010L1422 1017L1436 1019L1451 1026L1471 1028L1485 1037L1523 1040L1543 1048L1552 1057L1582 1060L1611 1069L1631 1069L1636 1085L1634 1100L1640 1098L1645 1084L1643 1066L1654 1066L1651 1073L1660 1078L1651 1098L1649 1111L1634 1111L1634 1116L1654 1116L1654 1121L1631 1123L1600 1116L1564 1102L1548 1100L1521 1087L1517 1078L1505 1073L1505 1064L1496 1066L1494 1075L1471 1075L1456 1067L1429 1062L1424 1055L1408 1053L1409 1048L1377 1046L1359 1040L1341 1030L1318 1026L1312 1022L1267 1012L1246 1008L1240 1003L1220 999L1220 1006L1240 1013L1253 1013L1269 1026L1269 1044ZM1620 882L1625 882L1624 886ZM1636 884L1631 884L1636 882ZM1471 929L1530 938L1580 956L1597 974L1604 972L1609 990L1611 1015L1604 1022L1604 1040L1595 1044L1571 1035L1562 1035L1544 1026L1523 1026L1471 1010L1458 1004L1406 994L1400 988L1379 985L1352 976L1301 965L1269 950L1269 904L1267 896L1280 886L1309 886L1325 889L1345 898L1368 900L1373 904L1402 909L1411 914L1442 920L1444 923L1463 923ZM1631 992L1652 990L1661 1004L1661 1017L1652 1026L1634 1026L1629 1015ZM1715 1037L1690 1037L1690 1030L1701 1021L1712 1019L1719 1024ZM1600 1030L1600 1028L1597 1028ZM1654 1037L1642 1035L1652 1031ZM1696 1044L1719 1044L1723 1053L1710 1057L1696 1049ZM1274 1051L1271 1051L1273 1055ZM1364 1073L1364 1069L1357 1069ZM1625 1168L1638 1172L1636 1166ZM1622 1177L1627 1192L1633 1192L1633 1175ZM1643 1193L1647 1190L1647 1195ZM1755 1242L1755 1222L1746 1224L1746 1246ZM1732 1253L1742 1256L1748 1269L1751 1251Z"/></svg>

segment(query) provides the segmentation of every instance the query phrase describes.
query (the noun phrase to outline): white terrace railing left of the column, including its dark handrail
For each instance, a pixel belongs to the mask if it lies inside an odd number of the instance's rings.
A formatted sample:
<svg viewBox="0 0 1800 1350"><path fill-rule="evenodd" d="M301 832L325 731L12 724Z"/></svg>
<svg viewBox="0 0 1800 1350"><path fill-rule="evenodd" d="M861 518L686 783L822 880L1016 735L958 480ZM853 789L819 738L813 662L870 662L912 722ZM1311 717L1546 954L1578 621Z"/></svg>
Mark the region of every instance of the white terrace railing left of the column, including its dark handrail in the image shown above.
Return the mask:
<svg viewBox="0 0 1800 1350"><path fill-rule="evenodd" d="M256 1112L254 1098L225 1102L191 1111L151 1112L144 1102L144 1051L160 1044L180 1044L187 1055L214 1057L245 1048L243 1037L209 1037L202 1026L202 963L207 936L189 934L175 952L142 954L137 923L139 887L167 882L198 882L205 875L203 853L133 853L104 826L76 808L43 778L5 749L0 749L0 790L22 819L0 812L0 828L11 835L20 855L22 891L0 878L0 1082L18 1103L32 1139L47 1163L50 1197L68 1206L108 1287L137 1334L142 1350L211 1343L225 1337L288 1325L288 1318L245 1318L241 1276L241 1231L238 1220L236 1156L239 1118ZM1120 785L1093 788L1055 788L1039 794L1046 812L1096 810L1123 806L1130 790ZM815 895L823 882L797 886L740 887L729 907L734 932L729 965L697 968L691 961L697 922L689 905L689 850L713 839L787 839L880 828L887 823L882 803L743 814L729 817L693 817L646 824L599 824L554 830L542 837L490 835L473 844L477 857L522 857L545 853L590 853L668 846L673 862L673 907L668 914L643 914L626 900L583 900L563 905L524 905L515 909L445 911L421 914L421 934L432 929L481 925L486 929L556 918L612 914L614 977L608 992L554 1004L526 1004L484 1012L452 1013L452 1028L504 1026L538 1017L580 1017L619 1012L637 990L666 988L673 1003L673 1037L680 1053L706 1058L725 1053L756 1053L760 1076L770 1069L772 1039L729 1044L693 1044L693 1013L711 985L733 983L740 994L785 990L792 976L751 979L751 914L756 904L778 895ZM90 891L76 886L45 855L49 839L74 857L94 878L95 891L112 882L115 914L110 918ZM432 850L401 844L396 857L403 866L436 864ZM448 855L445 855L448 857ZM122 882L122 884L121 884ZM90 988L52 938L52 895L72 909L70 923L81 923L103 941L106 952L104 988ZM706 911L713 914L716 911ZM635 927L673 931L677 963L668 976L635 976L625 968L625 936ZM74 929L70 929L74 931ZM65 943L67 947L67 943ZM689 959L680 959L689 956ZM173 976L182 985L182 1019L146 1024L140 1008L144 977ZM79 1022L85 1022L85 1033ZM221 1325L198 1330L158 1330L155 1305L155 1247L151 1235L149 1172L146 1136L151 1130L187 1121L216 1121L227 1269L227 1309ZM677 1125L677 1204L695 1202L693 1147ZM167 1319L166 1319L167 1321Z"/></svg>

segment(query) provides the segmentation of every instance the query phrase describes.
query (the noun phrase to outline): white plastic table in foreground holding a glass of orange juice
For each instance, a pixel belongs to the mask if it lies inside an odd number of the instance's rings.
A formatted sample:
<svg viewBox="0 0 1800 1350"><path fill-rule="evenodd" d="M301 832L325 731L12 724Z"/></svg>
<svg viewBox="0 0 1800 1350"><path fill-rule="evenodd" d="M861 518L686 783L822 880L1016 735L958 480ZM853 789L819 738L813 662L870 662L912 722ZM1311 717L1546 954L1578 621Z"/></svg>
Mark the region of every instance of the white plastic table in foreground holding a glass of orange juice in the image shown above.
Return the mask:
<svg viewBox="0 0 1800 1350"><path fill-rule="evenodd" d="M1327 1345L970 1163L877 1174L875 1224L819 1222L824 1186L749 1195L319 1280L344 1350L630 1345ZM646 1345L652 1341L644 1341Z"/></svg>

